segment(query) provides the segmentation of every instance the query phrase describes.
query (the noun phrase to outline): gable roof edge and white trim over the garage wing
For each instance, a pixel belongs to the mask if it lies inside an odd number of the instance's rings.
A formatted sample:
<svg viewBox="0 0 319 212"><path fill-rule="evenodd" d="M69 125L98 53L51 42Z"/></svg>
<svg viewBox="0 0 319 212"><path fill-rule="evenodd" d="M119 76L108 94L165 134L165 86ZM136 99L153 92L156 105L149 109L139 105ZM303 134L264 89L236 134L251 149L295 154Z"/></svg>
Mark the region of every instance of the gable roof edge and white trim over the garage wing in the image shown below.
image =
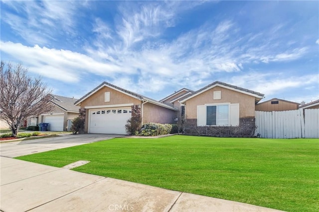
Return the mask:
<svg viewBox="0 0 319 212"><path fill-rule="evenodd" d="M152 103L154 105L158 105L158 106L162 106L162 107L166 107L168 109L172 109L172 110L175 110L177 111L178 109L176 107L173 107L173 106L169 106L169 105L166 105L164 103L160 103L156 100L153 100L151 98L148 98L148 97L145 97L143 95L140 95L140 94L137 94L137 93L134 93L134 92L131 92L131 91L128 91L128 90L125 90L123 88L120 88L118 86L115 86L115 85L112 85L111 83L107 83L107 82L103 82L101 83L99 86L97 86L95 89L93 89L92 91L90 91L89 93L87 93L86 95L84 95L81 99L79 99L78 101L76 101L74 103L74 105L76 106L80 106L81 105L81 102L83 102L84 100L86 100L87 98L89 98L90 96L92 96L93 94L95 94L97 91L99 91L100 89L104 88L104 87L108 87L108 88L111 88L113 90L116 90L118 92L121 92L123 94L126 94L130 97L133 97L135 99L138 99L138 100L141 100L141 101L148 101L149 103Z"/></svg>

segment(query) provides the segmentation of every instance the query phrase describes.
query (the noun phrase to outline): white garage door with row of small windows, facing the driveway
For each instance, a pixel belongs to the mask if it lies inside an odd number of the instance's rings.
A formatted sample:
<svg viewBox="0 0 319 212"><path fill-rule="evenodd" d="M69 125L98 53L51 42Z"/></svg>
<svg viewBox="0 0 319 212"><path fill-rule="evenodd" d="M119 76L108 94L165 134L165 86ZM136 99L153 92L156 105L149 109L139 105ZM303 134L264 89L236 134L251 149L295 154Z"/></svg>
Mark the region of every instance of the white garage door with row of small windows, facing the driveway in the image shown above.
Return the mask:
<svg viewBox="0 0 319 212"><path fill-rule="evenodd" d="M91 109L89 133L126 134L125 124L131 116L131 107Z"/></svg>

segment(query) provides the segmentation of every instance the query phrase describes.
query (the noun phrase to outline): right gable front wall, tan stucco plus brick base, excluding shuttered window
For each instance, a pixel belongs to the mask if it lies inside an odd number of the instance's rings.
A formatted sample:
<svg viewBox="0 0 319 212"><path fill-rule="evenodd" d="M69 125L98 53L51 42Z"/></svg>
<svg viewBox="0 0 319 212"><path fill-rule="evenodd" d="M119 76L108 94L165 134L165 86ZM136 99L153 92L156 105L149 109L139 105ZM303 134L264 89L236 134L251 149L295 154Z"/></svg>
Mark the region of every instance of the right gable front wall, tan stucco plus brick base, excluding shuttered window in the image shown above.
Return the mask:
<svg viewBox="0 0 319 212"><path fill-rule="evenodd" d="M213 100L214 91L221 91L221 100ZM197 106L205 104L239 104L238 126L197 126ZM229 89L214 87L185 103L184 130L190 134L210 136L253 136L255 126L255 98Z"/></svg>

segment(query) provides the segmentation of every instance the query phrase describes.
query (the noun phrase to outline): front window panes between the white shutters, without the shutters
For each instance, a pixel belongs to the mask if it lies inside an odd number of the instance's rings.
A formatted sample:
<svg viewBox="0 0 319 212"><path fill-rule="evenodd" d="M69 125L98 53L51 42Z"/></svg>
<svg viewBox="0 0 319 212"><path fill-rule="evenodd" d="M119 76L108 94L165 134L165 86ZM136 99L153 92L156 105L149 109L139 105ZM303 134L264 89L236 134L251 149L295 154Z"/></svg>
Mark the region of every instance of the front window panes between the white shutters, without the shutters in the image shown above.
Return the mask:
<svg viewBox="0 0 319 212"><path fill-rule="evenodd" d="M207 106L206 125L227 126L228 125L228 105Z"/></svg>

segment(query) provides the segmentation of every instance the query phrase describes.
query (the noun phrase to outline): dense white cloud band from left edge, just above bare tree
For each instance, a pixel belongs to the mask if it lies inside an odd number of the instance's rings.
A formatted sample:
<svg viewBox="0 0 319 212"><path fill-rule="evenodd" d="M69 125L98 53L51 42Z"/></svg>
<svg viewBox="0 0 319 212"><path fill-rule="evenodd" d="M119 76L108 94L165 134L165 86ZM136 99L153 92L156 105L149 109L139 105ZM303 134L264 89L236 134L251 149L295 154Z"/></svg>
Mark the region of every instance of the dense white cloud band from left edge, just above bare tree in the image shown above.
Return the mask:
<svg viewBox="0 0 319 212"><path fill-rule="evenodd" d="M78 82L83 73L108 77L126 73L125 69L117 65L102 63L69 50L41 48L38 45L28 47L20 43L2 41L0 44L2 52L23 62L23 65L29 67L29 71L63 82Z"/></svg>

